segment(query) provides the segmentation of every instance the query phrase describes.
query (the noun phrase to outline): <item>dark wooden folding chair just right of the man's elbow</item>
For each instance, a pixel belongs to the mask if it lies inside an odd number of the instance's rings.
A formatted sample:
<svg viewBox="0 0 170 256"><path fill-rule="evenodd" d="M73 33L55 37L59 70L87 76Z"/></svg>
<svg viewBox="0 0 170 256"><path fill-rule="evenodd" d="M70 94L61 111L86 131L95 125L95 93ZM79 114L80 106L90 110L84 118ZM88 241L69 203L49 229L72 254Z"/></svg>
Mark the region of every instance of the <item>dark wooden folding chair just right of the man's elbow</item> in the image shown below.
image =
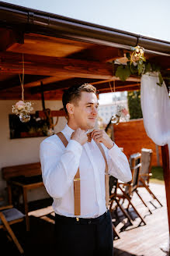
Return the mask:
<svg viewBox="0 0 170 256"><path fill-rule="evenodd" d="M146 222L142 218L141 214L137 211L137 208L132 203L132 196L134 191L137 189L138 182L139 182L139 175L141 171L141 153L130 155L130 163L131 163L130 169L132 172L132 180L129 183L121 183L119 181L117 182L116 192L115 194L111 194L110 196L111 204L112 204L112 200L116 201L116 204L118 204L123 214L127 216L130 223L132 224L132 219L130 218L130 215L124 210L123 204L120 204L120 199L123 199L123 201L127 199L128 201L127 210L131 205L131 207L134 208L134 212L136 212L138 217L141 219L141 222L143 222L144 225L146 225ZM118 190L120 190L120 192Z"/></svg>

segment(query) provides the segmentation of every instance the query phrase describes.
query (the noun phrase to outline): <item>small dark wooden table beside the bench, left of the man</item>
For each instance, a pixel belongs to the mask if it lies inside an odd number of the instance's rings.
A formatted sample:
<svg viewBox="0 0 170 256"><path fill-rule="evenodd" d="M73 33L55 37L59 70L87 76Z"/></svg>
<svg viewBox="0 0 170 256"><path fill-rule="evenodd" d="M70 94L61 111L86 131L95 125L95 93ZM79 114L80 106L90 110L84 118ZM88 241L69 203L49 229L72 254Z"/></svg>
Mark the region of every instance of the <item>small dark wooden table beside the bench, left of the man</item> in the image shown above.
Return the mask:
<svg viewBox="0 0 170 256"><path fill-rule="evenodd" d="M29 207L27 200L27 191L37 187L43 187L42 176L18 176L7 181L9 204L12 204L12 188L20 187L23 193L23 206L26 215L26 231L29 231Z"/></svg>

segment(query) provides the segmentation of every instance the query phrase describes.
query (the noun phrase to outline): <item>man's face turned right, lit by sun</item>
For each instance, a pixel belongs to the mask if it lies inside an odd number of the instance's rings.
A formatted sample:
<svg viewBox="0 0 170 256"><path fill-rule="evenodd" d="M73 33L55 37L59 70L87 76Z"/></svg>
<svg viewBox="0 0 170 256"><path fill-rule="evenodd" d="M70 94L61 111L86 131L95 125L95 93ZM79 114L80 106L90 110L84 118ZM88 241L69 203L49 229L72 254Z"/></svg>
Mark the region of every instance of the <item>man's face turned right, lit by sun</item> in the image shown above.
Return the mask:
<svg viewBox="0 0 170 256"><path fill-rule="evenodd" d="M82 91L81 98L77 105L73 107L72 122L74 130L90 130L95 127L95 121L98 114L98 100L94 93Z"/></svg>

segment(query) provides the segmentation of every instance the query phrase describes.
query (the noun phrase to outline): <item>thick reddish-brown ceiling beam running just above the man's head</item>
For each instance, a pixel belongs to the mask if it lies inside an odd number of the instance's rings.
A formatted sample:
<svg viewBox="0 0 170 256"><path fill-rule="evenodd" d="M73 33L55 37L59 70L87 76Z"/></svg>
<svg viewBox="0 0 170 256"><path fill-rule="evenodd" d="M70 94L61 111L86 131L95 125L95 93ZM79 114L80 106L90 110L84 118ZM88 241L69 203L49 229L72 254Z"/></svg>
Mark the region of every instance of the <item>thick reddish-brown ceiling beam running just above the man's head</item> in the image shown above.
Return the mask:
<svg viewBox="0 0 170 256"><path fill-rule="evenodd" d="M119 78L113 76L113 66L110 63L42 55L24 54L24 72L25 74L40 76L57 76L59 74L88 79L119 80ZM23 55L12 52L1 52L1 73L23 73Z"/></svg>

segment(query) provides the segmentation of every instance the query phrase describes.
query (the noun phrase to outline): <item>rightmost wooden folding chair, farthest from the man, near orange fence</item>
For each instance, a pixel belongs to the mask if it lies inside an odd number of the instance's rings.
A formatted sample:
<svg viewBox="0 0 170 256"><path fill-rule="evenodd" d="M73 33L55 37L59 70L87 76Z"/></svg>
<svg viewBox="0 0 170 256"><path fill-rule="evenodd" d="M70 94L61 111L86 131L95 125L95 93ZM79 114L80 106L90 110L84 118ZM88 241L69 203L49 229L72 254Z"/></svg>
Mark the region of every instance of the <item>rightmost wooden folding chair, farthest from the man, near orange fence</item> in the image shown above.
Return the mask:
<svg viewBox="0 0 170 256"><path fill-rule="evenodd" d="M139 176L139 183L137 187L145 187L146 190L151 194L151 197L153 197L158 203L161 205L161 202L158 200L158 198L154 195L154 193L151 191L149 187L149 180L152 175L151 173L151 160L152 160L152 153L153 151L148 148L142 148L141 149L141 173ZM141 197L141 195L137 191L137 195ZM143 199L141 198L143 201ZM149 210L151 212L151 210Z"/></svg>

